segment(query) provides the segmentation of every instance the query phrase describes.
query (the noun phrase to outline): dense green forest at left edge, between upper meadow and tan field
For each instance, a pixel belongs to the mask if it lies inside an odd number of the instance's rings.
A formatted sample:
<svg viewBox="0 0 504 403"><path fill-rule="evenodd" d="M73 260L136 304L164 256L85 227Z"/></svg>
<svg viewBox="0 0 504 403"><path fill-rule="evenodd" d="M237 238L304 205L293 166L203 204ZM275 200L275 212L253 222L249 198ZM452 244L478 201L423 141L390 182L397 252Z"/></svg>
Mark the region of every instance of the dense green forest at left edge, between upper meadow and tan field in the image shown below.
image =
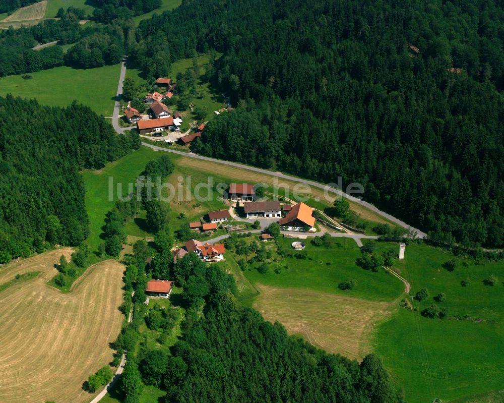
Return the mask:
<svg viewBox="0 0 504 403"><path fill-rule="evenodd" d="M88 235L83 168L101 168L140 147L89 107L0 97L0 263L79 245Z"/></svg>

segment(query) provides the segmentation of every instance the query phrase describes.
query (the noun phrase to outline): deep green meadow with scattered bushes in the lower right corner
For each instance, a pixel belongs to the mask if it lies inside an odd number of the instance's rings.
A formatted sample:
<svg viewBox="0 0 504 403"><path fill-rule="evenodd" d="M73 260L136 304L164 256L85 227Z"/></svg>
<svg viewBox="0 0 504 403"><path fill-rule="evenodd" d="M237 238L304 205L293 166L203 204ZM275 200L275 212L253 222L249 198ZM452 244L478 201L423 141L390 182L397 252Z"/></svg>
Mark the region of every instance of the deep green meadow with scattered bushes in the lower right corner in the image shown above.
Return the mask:
<svg viewBox="0 0 504 403"><path fill-rule="evenodd" d="M411 283L413 295L422 287L430 294L413 306L421 311L436 303L433 297L443 292L446 302L436 304L448 307L449 317L429 319L400 308L376 334L376 351L410 403L433 398L485 401L470 396L502 388L504 264L461 259L455 271L449 272L442 264L452 258L433 247L407 246L405 260L398 264L401 274ZM494 286L483 284L490 274L499 277ZM465 278L470 284L463 287Z"/></svg>

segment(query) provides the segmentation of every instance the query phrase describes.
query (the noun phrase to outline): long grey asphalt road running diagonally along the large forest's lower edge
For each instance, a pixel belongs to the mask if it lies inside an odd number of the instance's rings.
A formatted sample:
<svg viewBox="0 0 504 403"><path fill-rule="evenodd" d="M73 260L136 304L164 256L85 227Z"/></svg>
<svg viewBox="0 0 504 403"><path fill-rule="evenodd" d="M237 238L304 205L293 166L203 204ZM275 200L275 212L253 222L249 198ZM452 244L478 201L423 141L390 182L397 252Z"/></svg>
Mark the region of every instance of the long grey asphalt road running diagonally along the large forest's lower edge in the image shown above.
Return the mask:
<svg viewBox="0 0 504 403"><path fill-rule="evenodd" d="M171 150L169 148L155 146L155 145L152 145L152 144L147 144L147 143L142 143L142 144L144 146L150 147L150 148L152 148L154 150L167 151L167 152L171 152L171 153L174 153L174 154L183 155L183 156L189 157L189 158L196 158L196 159L201 159L203 161L217 162L217 163L220 163L220 164L229 165L229 166L233 166L235 168L240 168L240 169L248 169L248 170L251 170L251 171L254 171L254 172L259 172L260 174L270 175L270 176L273 176L273 177L277 177L277 178L281 178L281 179L286 179L286 180L289 180L289 181L295 181L295 182L303 183L305 185L312 186L314 188L325 189L326 186L327 186L327 185L323 185L323 184L320 184L320 183L317 183L317 182L309 181L307 179L296 178L296 177L293 177L293 176L290 176L290 175L285 175L285 174L282 174L282 172L274 172L274 171L267 170L267 169L257 168L255 166L243 165L243 164L240 164L240 163L237 163L237 162L225 161L225 160L221 160L221 159L216 159L216 158L205 157L205 156L202 156L202 155L197 155L197 154L194 154L194 153L187 153L187 152L182 152L182 151L177 151L177 150ZM420 231L419 229L414 228L414 227L408 225L406 222L401 221L399 218L396 218L396 217L390 215L389 213L386 213L385 211L380 210L379 208L373 206L370 203L367 203L365 201L359 200L356 197L350 196L350 195L346 194L345 192L343 192L343 191L341 191L341 190L339 190L337 188L331 187L330 189L331 189L332 192L337 193L337 194L339 194L339 195L347 198L348 200L350 200L352 202L358 203L358 204L360 204L360 205L368 208L369 210L374 211L376 214L379 214L382 217L387 218L388 220L394 222L395 224L397 224L397 225L399 225L399 226L401 226L403 228L408 229L408 231L412 230L412 231L416 232L416 237L417 238L425 238L425 237L427 237L427 234L425 234L424 232Z"/></svg>

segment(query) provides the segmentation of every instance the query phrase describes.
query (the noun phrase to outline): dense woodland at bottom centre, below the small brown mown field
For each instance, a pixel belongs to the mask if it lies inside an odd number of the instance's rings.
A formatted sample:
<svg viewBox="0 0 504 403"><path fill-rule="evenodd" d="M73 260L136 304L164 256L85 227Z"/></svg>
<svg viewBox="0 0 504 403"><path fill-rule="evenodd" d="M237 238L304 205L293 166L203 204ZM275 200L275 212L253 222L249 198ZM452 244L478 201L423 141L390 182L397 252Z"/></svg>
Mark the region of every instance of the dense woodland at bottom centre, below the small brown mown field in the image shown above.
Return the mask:
<svg viewBox="0 0 504 403"><path fill-rule="evenodd" d="M143 385L166 390L160 400L166 403L404 401L375 355L358 364L288 336L281 324L266 322L254 309L238 304L231 274L194 253L173 263L172 245L161 229L155 236L157 254L151 263L145 263L153 251L144 240L137 241L134 255L127 256L126 302L121 309L128 315L134 304L135 311L133 321L115 342L116 362L123 350L128 351L120 381L123 401L140 401ZM144 325L170 334L173 315L181 311L148 309L144 304L146 283L160 274L160 267L165 268L162 278L174 279L183 289L172 301L186 308L183 335L170 355L159 344L141 341Z"/></svg>

